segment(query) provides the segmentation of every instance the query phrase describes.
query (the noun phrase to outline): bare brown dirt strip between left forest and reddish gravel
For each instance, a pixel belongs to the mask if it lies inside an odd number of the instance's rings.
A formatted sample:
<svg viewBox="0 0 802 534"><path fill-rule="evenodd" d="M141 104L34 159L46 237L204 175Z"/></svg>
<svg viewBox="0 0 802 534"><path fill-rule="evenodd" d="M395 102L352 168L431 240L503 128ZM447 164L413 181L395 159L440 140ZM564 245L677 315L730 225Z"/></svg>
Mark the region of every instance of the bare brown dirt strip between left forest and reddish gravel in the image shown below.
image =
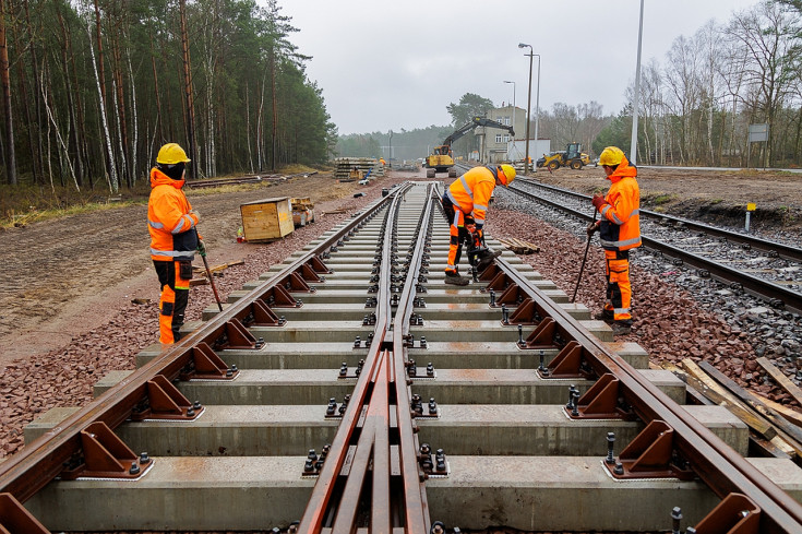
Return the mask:
<svg viewBox="0 0 802 534"><path fill-rule="evenodd" d="M229 193L188 189L187 195L201 214L199 229L216 265L255 247L237 244L240 204L276 197L310 197L320 204L359 188L319 174ZM146 219L143 204L0 233L0 368L69 343L131 299L158 300Z"/></svg>

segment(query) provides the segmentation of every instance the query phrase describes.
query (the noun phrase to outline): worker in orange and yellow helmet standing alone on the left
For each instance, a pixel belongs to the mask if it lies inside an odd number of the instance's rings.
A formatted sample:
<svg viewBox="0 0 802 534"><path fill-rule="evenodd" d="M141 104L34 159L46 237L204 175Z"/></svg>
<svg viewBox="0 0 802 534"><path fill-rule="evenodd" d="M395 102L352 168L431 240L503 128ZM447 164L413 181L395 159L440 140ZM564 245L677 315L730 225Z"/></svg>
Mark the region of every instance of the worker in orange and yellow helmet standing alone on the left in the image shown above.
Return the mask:
<svg viewBox="0 0 802 534"><path fill-rule="evenodd" d="M177 143L167 143L151 169L151 198L147 202L147 228L151 232L151 258L156 268L159 298L159 341L175 343L181 334L192 278L192 260L199 246L195 226L200 215L192 209L181 188L190 159Z"/></svg>

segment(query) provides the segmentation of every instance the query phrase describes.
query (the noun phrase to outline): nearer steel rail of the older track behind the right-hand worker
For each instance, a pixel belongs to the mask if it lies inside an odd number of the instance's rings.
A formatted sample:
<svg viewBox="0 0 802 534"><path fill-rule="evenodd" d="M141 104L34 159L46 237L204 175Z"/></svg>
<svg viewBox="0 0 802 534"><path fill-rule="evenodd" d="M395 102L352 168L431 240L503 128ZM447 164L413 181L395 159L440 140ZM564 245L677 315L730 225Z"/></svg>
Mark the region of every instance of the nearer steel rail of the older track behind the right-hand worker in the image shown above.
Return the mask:
<svg viewBox="0 0 802 534"><path fill-rule="evenodd" d="M523 197L528 197L532 200L536 200L537 202L541 202L541 203L551 205L558 210L567 212L571 215L582 221L589 222L592 219L592 217L590 215L587 215L586 213L582 213L577 210L560 204L559 202L543 199L541 197L538 197L531 193L530 191L524 191L520 188L517 188L515 183L511 185L508 189L511 189L512 191L515 191L516 193ZM573 191L568 191L568 192L573 193ZM578 194L578 193L574 193L574 194ZM722 230L722 232L726 232L726 230ZM733 235L737 235L737 234L733 234ZM662 254L669 256L671 258L675 258L678 260L681 260L683 263L687 263L689 265L693 265L696 269L706 271L707 273L710 274L710 276L715 277L716 280L720 282L723 282L727 284L732 284L732 283L740 284L740 288L743 288L743 290L745 290L746 293L757 298L768 301L771 306L780 307L780 302L781 302L783 306L786 306L787 308L791 310L802 312L802 293L793 292L791 289L788 289L787 287L782 287L781 285L758 278L757 276L754 276L750 273L744 273L735 269L729 268L727 265L723 265L717 261L708 260L706 258L696 256L692 252L687 252L672 245L669 245L665 241L660 241L659 239L654 239L648 236L642 235L641 240L643 241L644 247L653 249L653 250L657 250ZM774 244L773 241L768 241L768 242ZM755 248L757 247L755 246ZM788 249L789 247L786 247L786 248ZM802 253L802 250L800 250L800 253Z"/></svg>

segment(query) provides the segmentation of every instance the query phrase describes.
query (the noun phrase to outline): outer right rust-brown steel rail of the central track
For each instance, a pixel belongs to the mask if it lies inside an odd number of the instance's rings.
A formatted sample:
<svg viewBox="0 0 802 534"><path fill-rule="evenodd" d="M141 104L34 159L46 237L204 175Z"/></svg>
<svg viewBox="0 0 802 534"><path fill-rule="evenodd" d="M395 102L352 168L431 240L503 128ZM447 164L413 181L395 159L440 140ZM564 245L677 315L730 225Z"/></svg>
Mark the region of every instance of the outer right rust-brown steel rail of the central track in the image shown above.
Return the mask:
<svg viewBox="0 0 802 534"><path fill-rule="evenodd" d="M741 493L752 499L765 513L762 515L761 532L788 534L802 532L802 505L744 461L620 356L608 351L598 339L582 328L537 287L529 284L505 260L498 259L496 265L540 309L556 319L556 328L563 340L575 340L582 345L583 356L598 376L609 372L621 381L626 402L643 420L660 419L674 429L678 449L719 497Z"/></svg>

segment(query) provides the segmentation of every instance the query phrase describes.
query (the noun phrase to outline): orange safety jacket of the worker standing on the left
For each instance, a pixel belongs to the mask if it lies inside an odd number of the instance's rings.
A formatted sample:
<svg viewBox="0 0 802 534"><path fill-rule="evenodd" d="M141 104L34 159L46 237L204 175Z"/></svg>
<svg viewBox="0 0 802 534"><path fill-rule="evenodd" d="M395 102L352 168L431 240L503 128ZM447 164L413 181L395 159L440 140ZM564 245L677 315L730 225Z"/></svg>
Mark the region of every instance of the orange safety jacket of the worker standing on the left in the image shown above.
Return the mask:
<svg viewBox="0 0 802 534"><path fill-rule="evenodd" d="M181 188L156 167L151 169L151 199L147 202L147 229L151 258L158 261L192 260L197 249L197 215Z"/></svg>

